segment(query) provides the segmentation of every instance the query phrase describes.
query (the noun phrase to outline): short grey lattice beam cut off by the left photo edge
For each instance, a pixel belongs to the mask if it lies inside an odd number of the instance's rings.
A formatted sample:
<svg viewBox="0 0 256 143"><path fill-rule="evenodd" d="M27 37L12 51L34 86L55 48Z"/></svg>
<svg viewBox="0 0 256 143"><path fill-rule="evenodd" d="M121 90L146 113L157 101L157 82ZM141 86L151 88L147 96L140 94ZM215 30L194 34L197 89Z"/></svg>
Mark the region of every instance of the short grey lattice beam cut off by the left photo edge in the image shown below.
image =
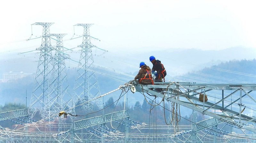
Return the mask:
<svg viewBox="0 0 256 143"><path fill-rule="evenodd" d="M0 121L11 119L11 118L23 117L23 116L28 116L27 109L2 112L0 113Z"/></svg>

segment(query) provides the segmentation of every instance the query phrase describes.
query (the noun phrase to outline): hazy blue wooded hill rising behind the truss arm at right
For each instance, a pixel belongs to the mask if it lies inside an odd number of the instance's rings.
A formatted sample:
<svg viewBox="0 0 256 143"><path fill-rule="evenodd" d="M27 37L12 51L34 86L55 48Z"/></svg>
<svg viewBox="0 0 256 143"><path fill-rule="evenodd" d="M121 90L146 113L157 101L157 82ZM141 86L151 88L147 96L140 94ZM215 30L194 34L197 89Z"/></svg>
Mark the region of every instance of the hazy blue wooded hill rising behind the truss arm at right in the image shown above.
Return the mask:
<svg viewBox="0 0 256 143"><path fill-rule="evenodd" d="M256 83L256 60L232 60L175 77L197 83Z"/></svg>

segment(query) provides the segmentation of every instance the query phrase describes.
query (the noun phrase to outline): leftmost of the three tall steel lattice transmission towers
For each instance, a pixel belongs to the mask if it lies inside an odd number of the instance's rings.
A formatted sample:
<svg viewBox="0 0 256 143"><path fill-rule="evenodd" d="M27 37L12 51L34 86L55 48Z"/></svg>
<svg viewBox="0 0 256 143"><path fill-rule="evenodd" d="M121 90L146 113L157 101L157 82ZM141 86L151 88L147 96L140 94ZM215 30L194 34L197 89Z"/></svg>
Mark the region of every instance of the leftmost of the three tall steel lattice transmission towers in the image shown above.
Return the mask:
<svg viewBox="0 0 256 143"><path fill-rule="evenodd" d="M53 23L34 23L32 25L42 25L43 35L42 44L36 50L40 51L40 57L38 61L37 71L36 71L36 83L34 90L32 92L31 101L28 113L31 118L34 117L37 111L40 111L41 117L46 118L46 120L53 121L53 98L51 97L52 89L52 69L53 69L53 58L50 40L50 29L49 27Z"/></svg>

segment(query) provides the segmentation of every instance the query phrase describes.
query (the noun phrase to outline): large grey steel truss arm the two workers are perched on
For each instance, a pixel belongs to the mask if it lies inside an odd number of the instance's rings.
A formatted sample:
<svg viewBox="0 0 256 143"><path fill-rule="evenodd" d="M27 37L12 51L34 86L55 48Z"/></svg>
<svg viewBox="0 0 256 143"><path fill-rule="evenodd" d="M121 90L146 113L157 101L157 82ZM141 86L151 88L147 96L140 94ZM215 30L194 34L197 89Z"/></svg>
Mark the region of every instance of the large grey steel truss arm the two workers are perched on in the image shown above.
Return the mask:
<svg viewBox="0 0 256 143"><path fill-rule="evenodd" d="M246 106L246 102L243 102L242 100L243 98L245 98L245 96L249 97L249 99L253 103L256 103L256 100L249 94L253 90L256 90L256 84L196 84L189 82L160 82L159 85L141 85L135 81L130 82L130 84L135 87L136 91L139 91L143 94L150 93L157 97L161 97L167 101L180 104L194 111L198 111L205 115L214 117L197 123L197 132L205 129L205 127L208 128L210 126L226 122L230 125L237 126L238 128L246 129L248 131L256 133L255 128L246 125L249 122L255 123L256 118L246 116L242 113L244 111L242 107L245 109ZM164 91L156 91L156 88L164 89ZM215 98L216 100L218 100L216 101L216 103L212 103L209 101L202 102L199 101L197 97L195 97L199 93L203 94L205 97L205 95L211 90L222 91L222 98ZM224 90L230 90L231 94L224 97ZM237 99L235 101L228 100L232 95L235 95L235 93L238 94ZM177 100L175 97L180 97L180 99ZM189 102L187 102L186 100L188 100ZM205 100L205 98L203 98L203 100ZM193 101L196 101L197 103ZM236 103L237 101L239 101L239 103ZM232 104L238 106L239 109L231 110L230 105ZM221 110L222 114L216 114L210 109ZM198 137L198 139L200 138ZM214 137L214 142L216 142L216 136Z"/></svg>

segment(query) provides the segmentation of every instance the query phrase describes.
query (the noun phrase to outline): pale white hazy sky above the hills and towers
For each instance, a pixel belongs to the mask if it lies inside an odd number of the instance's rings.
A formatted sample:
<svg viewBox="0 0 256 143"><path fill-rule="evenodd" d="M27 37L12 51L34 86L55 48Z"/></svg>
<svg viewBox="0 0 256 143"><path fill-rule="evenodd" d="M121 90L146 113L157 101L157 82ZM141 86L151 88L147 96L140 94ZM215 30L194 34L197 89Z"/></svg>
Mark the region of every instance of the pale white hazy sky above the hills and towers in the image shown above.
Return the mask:
<svg viewBox="0 0 256 143"><path fill-rule="evenodd" d="M93 23L91 35L101 39L97 45L109 51L255 48L255 4L234 0L4 1L0 51L40 45L38 41L13 43L27 39L35 22L54 22L51 33L67 33L64 39L72 37L73 25ZM75 33L81 35L82 29L76 27ZM40 36L42 27L33 26L33 34Z"/></svg>

